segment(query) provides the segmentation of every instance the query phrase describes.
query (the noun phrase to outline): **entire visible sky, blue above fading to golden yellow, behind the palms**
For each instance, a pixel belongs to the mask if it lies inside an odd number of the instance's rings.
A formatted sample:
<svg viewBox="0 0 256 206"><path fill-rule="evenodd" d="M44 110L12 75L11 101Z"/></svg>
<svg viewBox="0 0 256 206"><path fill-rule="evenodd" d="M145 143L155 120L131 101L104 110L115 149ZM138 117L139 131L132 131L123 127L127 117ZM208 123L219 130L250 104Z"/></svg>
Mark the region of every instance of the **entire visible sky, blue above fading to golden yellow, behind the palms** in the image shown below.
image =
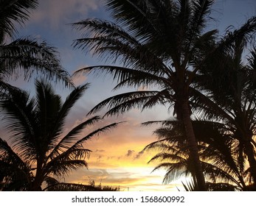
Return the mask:
<svg viewBox="0 0 256 206"><path fill-rule="evenodd" d="M109 13L103 7L103 1L41 0L39 2L38 9L31 13L30 20L18 28L17 38L30 36L38 40L46 40L51 46L55 46L60 53L61 63L69 74L86 65L99 64L97 57L91 57L90 53L86 54L72 48L73 40L80 36L70 24L86 18L109 19ZM256 1L218 0L213 6L212 15L215 21L210 22L210 28L218 28L221 35L229 25L238 28L246 19L256 15ZM64 132L88 118L86 114L94 105L121 92L112 91L114 82L111 77L90 75L76 77L74 81L76 85L86 82L90 82L91 85L71 110ZM13 84L31 90L31 93L33 91L33 79L30 82L18 79ZM70 90L58 88L58 92L64 99ZM103 114L104 110L97 113L97 115ZM95 126L101 127L117 121L125 122L111 132L91 138L86 142L86 148L92 151L87 160L89 169L74 171L68 177L61 178L60 181L87 184L90 180L94 180L96 185L118 186L122 191L177 191L177 187L182 189L181 180L162 185L165 171L151 173L156 163L148 164L148 160L156 153L141 152L148 143L156 141L153 135L156 127L142 127L141 123L165 120L170 117L172 113L168 112L166 107L159 106L143 112L134 109L124 115L105 118ZM3 127L0 133L7 135Z"/></svg>

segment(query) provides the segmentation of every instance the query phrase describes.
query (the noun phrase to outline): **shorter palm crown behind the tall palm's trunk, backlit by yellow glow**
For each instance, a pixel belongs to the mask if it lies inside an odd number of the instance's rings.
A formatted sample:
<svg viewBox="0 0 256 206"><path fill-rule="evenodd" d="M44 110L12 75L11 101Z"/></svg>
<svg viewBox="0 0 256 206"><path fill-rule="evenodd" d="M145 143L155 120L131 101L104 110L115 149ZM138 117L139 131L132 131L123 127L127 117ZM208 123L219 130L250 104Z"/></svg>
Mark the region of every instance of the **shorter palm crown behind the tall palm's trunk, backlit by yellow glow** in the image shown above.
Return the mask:
<svg viewBox="0 0 256 206"><path fill-rule="evenodd" d="M145 146L143 151L156 150L148 163L159 162L153 171L164 168L164 183L181 177L192 177L194 189L196 178L192 161L184 137L184 129L179 121L152 121L145 125L161 123L154 132L158 141ZM193 128L199 142L200 160L209 191L247 191L250 182L246 181L246 170L238 160L237 141L229 136L226 125L213 121L193 121ZM188 185L191 185L188 184Z"/></svg>

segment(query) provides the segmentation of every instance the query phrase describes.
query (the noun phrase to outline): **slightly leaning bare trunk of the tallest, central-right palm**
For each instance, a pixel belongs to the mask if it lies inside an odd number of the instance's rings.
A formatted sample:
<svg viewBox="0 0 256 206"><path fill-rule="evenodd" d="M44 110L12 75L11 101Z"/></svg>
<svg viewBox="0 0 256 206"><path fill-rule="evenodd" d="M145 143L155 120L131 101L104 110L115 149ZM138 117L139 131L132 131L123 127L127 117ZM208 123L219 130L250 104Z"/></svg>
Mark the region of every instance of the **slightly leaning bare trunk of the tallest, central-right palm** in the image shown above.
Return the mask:
<svg viewBox="0 0 256 206"><path fill-rule="evenodd" d="M204 180L203 169L198 154L198 143L193 130L192 121L190 118L190 107L188 101L184 101L182 104L182 120L184 124L185 134L187 136L187 142L190 149L190 157L195 167L196 181L198 183L199 191L207 191L207 187Z"/></svg>

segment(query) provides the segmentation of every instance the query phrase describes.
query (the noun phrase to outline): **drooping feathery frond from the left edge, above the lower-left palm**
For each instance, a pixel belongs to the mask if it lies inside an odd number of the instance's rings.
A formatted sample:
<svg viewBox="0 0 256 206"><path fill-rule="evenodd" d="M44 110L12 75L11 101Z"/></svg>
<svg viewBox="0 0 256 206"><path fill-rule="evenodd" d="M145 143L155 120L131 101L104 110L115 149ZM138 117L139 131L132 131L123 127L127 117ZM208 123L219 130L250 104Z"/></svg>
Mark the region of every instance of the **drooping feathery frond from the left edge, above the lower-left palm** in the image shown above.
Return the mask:
<svg viewBox="0 0 256 206"><path fill-rule="evenodd" d="M72 86L69 74L60 65L58 52L45 41L39 43L31 38L20 38L12 43L0 46L0 63L4 68L4 78L15 74L19 69L24 71L25 79L35 72L46 75L49 79L61 80L65 85Z"/></svg>

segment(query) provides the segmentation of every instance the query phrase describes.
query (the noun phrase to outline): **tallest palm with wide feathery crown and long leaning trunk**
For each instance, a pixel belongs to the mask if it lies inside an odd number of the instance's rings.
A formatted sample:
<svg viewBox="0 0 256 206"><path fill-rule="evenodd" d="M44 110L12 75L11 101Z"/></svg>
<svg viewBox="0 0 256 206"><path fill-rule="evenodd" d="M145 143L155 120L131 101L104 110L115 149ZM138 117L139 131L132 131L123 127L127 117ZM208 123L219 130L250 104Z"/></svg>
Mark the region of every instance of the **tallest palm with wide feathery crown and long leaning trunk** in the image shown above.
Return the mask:
<svg viewBox="0 0 256 206"><path fill-rule="evenodd" d="M144 109L156 104L169 107L174 104L176 118L184 122L201 191L206 187L190 119L189 99L193 79L205 56L203 51L215 38L216 30L205 32L212 4L212 0L107 0L106 6L117 24L99 19L73 24L87 34L75 41L75 47L87 49L89 46L94 54L123 63L122 66L91 66L75 74L105 71L117 79L115 89L156 86L156 90L136 90L113 96L94 107L92 112L105 105L111 108L106 115L112 115L132 107Z"/></svg>

